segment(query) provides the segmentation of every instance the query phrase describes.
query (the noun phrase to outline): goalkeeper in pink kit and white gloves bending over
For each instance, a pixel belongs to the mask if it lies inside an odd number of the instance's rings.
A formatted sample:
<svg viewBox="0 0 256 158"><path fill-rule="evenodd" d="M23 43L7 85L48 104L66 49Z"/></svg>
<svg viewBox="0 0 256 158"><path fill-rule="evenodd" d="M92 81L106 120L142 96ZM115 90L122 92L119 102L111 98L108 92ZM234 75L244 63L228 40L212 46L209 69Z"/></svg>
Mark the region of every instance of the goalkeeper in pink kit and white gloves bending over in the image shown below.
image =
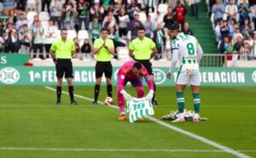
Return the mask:
<svg viewBox="0 0 256 158"><path fill-rule="evenodd" d="M133 98L129 93L125 92L125 86L127 82L131 82L131 86L135 87L137 91L137 98L143 98L144 87L142 76L144 76L146 82L148 83L149 93L146 96L147 100L151 100L154 95L154 85L148 75L146 68L137 61L128 61L121 66L118 72L118 104L120 110L119 120L126 120L125 116L125 100L131 101ZM124 100L125 98L125 100Z"/></svg>

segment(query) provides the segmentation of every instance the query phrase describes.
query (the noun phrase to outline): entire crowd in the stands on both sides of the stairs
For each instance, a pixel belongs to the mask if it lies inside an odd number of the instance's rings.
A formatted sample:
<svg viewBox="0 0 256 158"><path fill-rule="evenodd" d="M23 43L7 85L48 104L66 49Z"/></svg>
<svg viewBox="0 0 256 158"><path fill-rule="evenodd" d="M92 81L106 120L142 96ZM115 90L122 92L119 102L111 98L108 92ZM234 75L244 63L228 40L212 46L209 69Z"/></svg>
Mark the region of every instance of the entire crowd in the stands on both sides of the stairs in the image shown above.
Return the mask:
<svg viewBox="0 0 256 158"><path fill-rule="evenodd" d="M200 0L1 0L0 52L49 58L51 43L60 37L61 28L67 28L76 44L74 58L92 59L92 43L100 37L103 27L108 28L108 37L118 48L128 47L137 37L137 28L143 25L146 36L154 40L159 50L154 59L161 59L171 47L167 28L173 21L180 23L184 33L193 35L185 21L185 4L197 20L199 3ZM256 5L247 0L206 3L220 54L245 54L243 58L255 59Z"/></svg>

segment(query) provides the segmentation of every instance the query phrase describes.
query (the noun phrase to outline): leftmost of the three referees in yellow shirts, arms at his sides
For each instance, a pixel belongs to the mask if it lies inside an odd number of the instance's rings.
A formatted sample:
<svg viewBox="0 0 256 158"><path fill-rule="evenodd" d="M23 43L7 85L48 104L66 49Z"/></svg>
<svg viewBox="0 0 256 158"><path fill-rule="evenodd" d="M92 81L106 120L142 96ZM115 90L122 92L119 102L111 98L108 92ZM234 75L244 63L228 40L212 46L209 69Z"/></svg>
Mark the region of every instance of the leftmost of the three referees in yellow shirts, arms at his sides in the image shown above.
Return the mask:
<svg viewBox="0 0 256 158"><path fill-rule="evenodd" d="M67 29L61 29L61 39L52 43L49 54L55 62L57 83L57 102L61 104L61 86L63 76L67 78L68 92L70 96L70 104L76 105L77 102L73 99L73 65L71 62L72 55L75 53L75 45L72 40L67 39Z"/></svg>

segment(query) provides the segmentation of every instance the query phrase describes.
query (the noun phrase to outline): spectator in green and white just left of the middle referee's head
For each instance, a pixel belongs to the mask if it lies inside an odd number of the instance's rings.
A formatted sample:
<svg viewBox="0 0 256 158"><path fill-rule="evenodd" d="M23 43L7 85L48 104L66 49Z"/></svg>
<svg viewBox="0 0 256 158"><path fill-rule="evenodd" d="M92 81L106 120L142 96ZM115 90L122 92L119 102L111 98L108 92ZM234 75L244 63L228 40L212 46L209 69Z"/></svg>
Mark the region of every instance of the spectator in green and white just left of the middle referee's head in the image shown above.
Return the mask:
<svg viewBox="0 0 256 158"><path fill-rule="evenodd" d="M90 22L89 25L90 28L90 37L92 42L96 40L96 38L99 38L101 36L101 30L102 30L102 25L98 20L98 17L94 17L93 21Z"/></svg>

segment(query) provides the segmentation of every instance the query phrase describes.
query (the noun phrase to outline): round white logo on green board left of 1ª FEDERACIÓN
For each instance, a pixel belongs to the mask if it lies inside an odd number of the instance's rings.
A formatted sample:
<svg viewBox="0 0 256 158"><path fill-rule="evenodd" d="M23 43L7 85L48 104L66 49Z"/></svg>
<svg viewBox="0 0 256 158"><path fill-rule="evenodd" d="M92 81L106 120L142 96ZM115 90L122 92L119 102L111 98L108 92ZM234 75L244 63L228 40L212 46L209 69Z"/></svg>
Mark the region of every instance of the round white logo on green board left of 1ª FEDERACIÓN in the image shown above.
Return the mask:
<svg viewBox="0 0 256 158"><path fill-rule="evenodd" d="M6 67L0 71L0 82L13 84L20 79L20 73L14 68Z"/></svg>

